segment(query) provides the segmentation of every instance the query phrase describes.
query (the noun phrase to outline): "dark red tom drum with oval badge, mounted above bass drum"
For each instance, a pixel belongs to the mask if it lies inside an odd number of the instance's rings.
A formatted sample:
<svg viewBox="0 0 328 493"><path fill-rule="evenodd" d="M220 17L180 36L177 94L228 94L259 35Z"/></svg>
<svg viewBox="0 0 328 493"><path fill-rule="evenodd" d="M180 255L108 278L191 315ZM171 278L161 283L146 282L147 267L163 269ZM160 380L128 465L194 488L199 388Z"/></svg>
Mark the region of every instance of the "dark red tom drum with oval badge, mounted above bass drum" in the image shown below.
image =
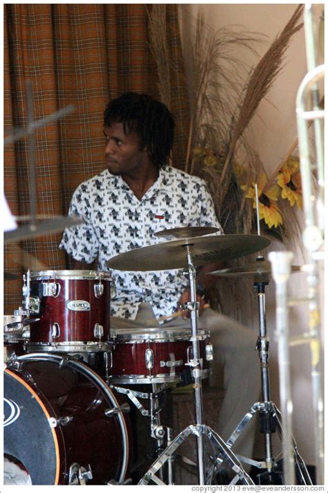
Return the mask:
<svg viewBox="0 0 328 493"><path fill-rule="evenodd" d="M110 299L106 272L30 273L26 305L40 320L31 325L28 352L110 350Z"/></svg>

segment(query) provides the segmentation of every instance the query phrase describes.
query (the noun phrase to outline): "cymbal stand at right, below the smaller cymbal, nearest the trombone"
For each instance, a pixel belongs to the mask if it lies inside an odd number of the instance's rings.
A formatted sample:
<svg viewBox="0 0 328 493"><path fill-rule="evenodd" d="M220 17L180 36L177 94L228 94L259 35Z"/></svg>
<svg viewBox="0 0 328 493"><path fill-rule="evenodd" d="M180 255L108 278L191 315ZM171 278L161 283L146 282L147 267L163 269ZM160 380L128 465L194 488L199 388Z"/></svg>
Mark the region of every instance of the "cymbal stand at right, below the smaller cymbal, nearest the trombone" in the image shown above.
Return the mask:
<svg viewBox="0 0 328 493"><path fill-rule="evenodd" d="M262 256L258 256L256 259L258 262L264 260ZM260 484L283 484L282 474L275 471L277 461L273 457L272 450L272 434L277 431L280 440L282 439L282 419L281 413L277 409L277 406L271 401L270 395L270 380L268 369L268 357L269 357L269 340L266 333L266 310L265 310L265 287L268 285L268 278L261 276L262 280L255 280L253 286L254 291L257 294L259 305L259 337L257 339L256 348L259 352L261 381L262 381L262 401L255 402L250 407L244 418L237 424L235 431L231 434L227 441L229 447L232 447L237 438L240 436L246 424L259 413L259 429L261 433L264 433L265 442L265 460L258 461L238 456L239 460L243 463L253 465L259 469L266 469L266 472L258 474ZM292 438L293 454L295 458L295 465L298 468L300 474L300 481L304 485L311 485L312 481L307 471L307 467L304 464L304 460L298 453L298 448L294 438Z"/></svg>

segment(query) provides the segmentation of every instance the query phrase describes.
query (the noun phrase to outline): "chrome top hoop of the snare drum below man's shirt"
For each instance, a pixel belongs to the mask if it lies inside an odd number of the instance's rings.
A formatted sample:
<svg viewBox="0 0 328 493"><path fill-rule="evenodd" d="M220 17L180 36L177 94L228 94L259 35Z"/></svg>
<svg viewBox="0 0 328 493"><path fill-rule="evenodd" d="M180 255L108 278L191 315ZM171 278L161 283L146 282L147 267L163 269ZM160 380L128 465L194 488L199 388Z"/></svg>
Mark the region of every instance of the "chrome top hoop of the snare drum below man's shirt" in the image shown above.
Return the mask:
<svg viewBox="0 0 328 493"><path fill-rule="evenodd" d="M137 331L137 333L134 331ZM205 329L199 329L199 335L206 336L207 333L208 332ZM154 343L165 343L175 341L189 341L190 337L192 337L192 333L191 331L188 332L187 330L185 330L185 328L181 328L181 330L179 330L179 328L172 328L172 332L170 332L167 328L149 328L145 329L144 332L140 332L139 329L111 329L110 337L115 342L124 341L129 343L145 343L151 341Z"/></svg>

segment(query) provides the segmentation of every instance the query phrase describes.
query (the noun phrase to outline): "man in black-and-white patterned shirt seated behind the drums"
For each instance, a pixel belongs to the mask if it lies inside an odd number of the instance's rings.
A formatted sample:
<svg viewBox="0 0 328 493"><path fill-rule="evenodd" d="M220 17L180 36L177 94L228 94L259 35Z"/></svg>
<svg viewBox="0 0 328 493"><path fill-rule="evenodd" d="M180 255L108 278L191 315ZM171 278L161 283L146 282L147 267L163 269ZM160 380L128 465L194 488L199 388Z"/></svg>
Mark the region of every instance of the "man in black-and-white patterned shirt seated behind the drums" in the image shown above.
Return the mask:
<svg viewBox="0 0 328 493"><path fill-rule="evenodd" d="M107 261L131 249L163 242L163 229L212 226L223 234L205 181L168 165L174 140L174 118L163 103L145 94L124 93L104 111L107 168L75 190L69 215L84 224L64 231L60 248L73 257L74 269L91 269L93 262L108 271ZM199 327L210 330L214 348L211 385L224 370L224 402L217 431L227 440L259 398L260 380L255 351L256 333L210 308L204 295L215 283L197 269ZM111 299L111 326L116 328L186 327L188 311L159 321L190 301L188 279L181 270L111 271L116 296ZM253 420L254 421L254 420ZM254 426L237 440L234 451L253 456Z"/></svg>

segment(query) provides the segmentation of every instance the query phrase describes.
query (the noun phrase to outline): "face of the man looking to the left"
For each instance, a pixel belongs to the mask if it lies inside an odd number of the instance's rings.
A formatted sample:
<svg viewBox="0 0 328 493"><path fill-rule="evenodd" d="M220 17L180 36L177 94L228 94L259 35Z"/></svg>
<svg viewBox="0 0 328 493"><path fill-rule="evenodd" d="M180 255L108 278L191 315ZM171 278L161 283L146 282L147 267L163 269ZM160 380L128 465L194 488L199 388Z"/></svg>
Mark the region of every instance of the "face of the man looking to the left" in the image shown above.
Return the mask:
<svg viewBox="0 0 328 493"><path fill-rule="evenodd" d="M147 160L146 150L140 150L140 138L134 130L124 133L123 123L104 127L106 163L111 174L135 174Z"/></svg>

